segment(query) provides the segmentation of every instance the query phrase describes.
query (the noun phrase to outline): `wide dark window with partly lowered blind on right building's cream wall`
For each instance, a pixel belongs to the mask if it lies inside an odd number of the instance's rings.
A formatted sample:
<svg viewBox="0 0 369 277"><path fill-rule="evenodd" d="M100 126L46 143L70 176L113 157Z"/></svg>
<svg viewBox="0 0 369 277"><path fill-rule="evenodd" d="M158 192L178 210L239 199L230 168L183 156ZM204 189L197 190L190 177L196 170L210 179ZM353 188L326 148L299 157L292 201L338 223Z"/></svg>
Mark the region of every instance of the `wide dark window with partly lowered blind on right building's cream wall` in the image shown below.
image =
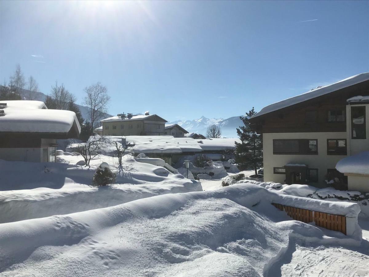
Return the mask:
<svg viewBox="0 0 369 277"><path fill-rule="evenodd" d="M273 140L273 154L317 155L318 140L316 139Z"/></svg>

